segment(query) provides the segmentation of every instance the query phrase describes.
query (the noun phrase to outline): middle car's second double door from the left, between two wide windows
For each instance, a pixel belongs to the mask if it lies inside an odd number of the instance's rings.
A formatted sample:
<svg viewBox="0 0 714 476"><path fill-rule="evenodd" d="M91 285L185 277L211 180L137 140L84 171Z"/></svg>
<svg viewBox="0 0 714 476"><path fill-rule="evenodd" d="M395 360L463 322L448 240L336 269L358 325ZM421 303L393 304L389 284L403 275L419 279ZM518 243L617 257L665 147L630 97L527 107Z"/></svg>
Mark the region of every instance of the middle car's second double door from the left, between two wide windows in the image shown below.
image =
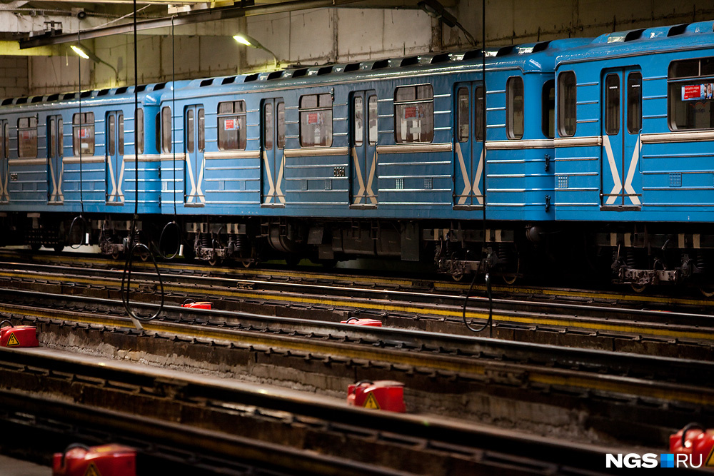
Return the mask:
<svg viewBox="0 0 714 476"><path fill-rule="evenodd" d="M261 112L261 203L284 206L283 176L285 163L285 103L283 98L263 100Z"/></svg>

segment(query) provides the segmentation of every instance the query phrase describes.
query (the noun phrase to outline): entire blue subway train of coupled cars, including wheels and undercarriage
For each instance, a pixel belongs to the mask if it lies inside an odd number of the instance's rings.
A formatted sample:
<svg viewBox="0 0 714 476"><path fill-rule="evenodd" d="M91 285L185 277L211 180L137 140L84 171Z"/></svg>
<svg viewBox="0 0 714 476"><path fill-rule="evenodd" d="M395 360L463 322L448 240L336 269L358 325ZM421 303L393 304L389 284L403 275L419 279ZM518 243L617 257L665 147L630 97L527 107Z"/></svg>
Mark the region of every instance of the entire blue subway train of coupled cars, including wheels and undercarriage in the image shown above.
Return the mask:
<svg viewBox="0 0 714 476"><path fill-rule="evenodd" d="M507 282L592 268L707 293L713 28L7 98L0 244Z"/></svg>

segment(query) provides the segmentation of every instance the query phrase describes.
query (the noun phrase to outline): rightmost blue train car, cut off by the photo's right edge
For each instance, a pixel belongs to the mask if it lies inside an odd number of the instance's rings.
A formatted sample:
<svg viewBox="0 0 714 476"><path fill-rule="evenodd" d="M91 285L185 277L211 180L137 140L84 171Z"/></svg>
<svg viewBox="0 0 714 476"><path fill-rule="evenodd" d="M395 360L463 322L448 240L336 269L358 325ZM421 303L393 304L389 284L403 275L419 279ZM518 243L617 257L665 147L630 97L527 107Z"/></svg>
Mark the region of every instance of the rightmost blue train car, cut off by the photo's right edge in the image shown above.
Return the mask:
<svg viewBox="0 0 714 476"><path fill-rule="evenodd" d="M555 218L638 290L705 285L714 263L713 27L606 34L556 61Z"/></svg>

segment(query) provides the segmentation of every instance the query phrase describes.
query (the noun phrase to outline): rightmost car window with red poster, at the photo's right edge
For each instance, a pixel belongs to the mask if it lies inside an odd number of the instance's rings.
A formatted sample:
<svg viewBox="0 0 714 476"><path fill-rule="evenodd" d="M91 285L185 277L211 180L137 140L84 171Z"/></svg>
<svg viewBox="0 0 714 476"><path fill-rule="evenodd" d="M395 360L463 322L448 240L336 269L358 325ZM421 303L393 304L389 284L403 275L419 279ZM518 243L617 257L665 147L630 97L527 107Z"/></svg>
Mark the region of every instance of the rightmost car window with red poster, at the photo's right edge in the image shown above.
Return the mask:
<svg viewBox="0 0 714 476"><path fill-rule="evenodd" d="M672 61L667 82L670 129L714 128L714 58Z"/></svg>

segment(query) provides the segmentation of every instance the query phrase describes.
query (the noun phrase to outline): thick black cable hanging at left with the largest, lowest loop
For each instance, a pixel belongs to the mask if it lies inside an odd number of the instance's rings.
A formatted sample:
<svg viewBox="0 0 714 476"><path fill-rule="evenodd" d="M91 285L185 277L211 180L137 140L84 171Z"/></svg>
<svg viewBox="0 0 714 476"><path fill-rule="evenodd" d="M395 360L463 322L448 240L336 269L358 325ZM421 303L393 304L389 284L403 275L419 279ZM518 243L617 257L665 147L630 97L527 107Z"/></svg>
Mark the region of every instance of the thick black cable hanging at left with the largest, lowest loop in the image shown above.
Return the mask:
<svg viewBox="0 0 714 476"><path fill-rule="evenodd" d="M139 111L139 61L137 60L137 50L138 45L136 44L136 0L134 0L134 217L131 218L131 228L129 229L129 237L126 245L126 263L124 265L124 273L121 275L121 300L124 303L124 309L129 317L134 320L152 320L161 314L164 310L164 300L166 295L164 294L164 280L161 279L161 273L159 272L159 265L156 263L156 258L154 258L154 253L151 253L149 246L144 243L134 243L134 236L138 235L136 230L136 221L139 219L139 148L136 146L136 127L137 124L137 112ZM150 315L149 317L141 316L131 309L131 303L129 301L129 294L131 293L131 265L134 259L134 253L146 253L151 256L151 260L154 262L154 269L156 270L156 275L159 277L159 287L161 288L161 303L159 304L159 309L156 313ZM139 327L137 323L137 327Z"/></svg>

